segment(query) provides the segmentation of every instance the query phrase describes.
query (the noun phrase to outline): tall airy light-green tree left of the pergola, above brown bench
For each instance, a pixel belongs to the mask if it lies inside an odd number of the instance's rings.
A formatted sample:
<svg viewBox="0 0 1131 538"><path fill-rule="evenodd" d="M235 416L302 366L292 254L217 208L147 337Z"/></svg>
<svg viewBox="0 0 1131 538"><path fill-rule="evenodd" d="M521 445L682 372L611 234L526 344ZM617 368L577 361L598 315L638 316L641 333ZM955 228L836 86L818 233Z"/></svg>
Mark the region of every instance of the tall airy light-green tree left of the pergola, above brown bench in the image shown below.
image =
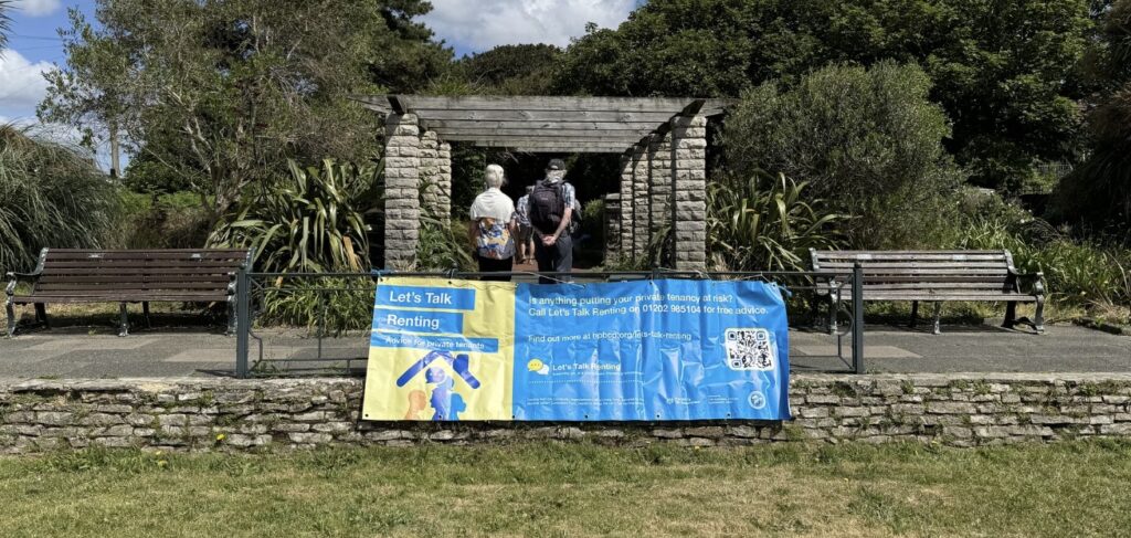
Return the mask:
<svg viewBox="0 0 1131 538"><path fill-rule="evenodd" d="M359 93L412 92L451 53L414 23L420 0L100 0L62 32L40 118L120 132L183 177L218 218L287 158L364 160L374 114Z"/></svg>

